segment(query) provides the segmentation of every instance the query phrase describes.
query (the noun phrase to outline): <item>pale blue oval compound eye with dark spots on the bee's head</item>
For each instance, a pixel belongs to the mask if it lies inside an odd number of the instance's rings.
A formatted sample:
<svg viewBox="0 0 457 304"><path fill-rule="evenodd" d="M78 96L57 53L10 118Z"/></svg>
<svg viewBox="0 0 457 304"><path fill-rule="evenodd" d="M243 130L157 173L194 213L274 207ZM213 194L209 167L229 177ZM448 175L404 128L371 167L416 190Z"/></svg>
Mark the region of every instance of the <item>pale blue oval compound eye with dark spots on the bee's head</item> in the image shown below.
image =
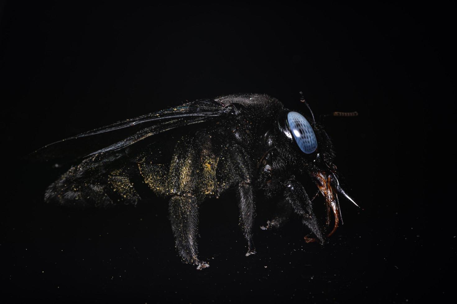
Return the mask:
<svg viewBox="0 0 457 304"><path fill-rule="evenodd" d="M289 112L287 113L287 122L289 123L289 129L300 150L306 154L316 151L316 135L314 135L313 128L311 128L308 120L306 120L306 118L304 118L300 113Z"/></svg>

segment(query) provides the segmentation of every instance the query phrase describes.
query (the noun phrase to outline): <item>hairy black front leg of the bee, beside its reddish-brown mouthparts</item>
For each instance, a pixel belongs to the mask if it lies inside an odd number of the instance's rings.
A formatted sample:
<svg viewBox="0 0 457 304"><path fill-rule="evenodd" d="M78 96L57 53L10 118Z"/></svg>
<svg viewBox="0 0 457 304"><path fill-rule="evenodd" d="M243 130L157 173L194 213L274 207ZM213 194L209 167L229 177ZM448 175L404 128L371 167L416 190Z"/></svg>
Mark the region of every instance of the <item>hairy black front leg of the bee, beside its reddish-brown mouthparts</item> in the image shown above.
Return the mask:
<svg viewBox="0 0 457 304"><path fill-rule="evenodd" d="M286 180L284 185L286 186L284 190L286 201L291 204L293 211L302 217L303 224L314 233L321 244L324 244L324 237L313 212L313 205L303 185L293 178Z"/></svg>

